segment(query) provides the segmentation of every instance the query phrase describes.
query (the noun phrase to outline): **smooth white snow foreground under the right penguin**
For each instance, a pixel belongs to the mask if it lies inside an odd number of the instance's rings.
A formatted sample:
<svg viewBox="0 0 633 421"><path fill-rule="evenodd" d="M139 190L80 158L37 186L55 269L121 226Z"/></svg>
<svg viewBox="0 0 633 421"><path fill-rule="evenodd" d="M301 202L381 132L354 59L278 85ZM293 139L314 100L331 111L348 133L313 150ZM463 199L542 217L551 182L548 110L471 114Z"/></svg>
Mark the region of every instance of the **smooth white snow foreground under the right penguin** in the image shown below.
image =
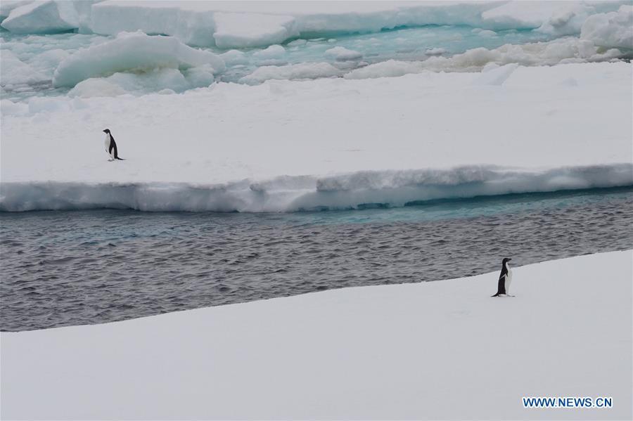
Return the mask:
<svg viewBox="0 0 633 421"><path fill-rule="evenodd" d="M1 416L631 419L632 263L625 251L513 266L514 298L490 297L490 268L2 332ZM523 396L613 408L526 409Z"/></svg>

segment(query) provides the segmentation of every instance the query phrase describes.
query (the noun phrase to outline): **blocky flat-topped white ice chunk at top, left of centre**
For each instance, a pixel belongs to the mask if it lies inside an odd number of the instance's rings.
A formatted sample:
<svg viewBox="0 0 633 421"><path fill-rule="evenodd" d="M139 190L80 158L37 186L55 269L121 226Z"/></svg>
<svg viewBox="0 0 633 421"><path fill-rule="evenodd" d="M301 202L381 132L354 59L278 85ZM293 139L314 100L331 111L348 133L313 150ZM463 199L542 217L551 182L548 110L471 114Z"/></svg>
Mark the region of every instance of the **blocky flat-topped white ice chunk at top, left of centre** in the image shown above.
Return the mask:
<svg viewBox="0 0 633 421"><path fill-rule="evenodd" d="M259 13L215 13L215 44L220 48L279 44L298 36L295 18Z"/></svg>

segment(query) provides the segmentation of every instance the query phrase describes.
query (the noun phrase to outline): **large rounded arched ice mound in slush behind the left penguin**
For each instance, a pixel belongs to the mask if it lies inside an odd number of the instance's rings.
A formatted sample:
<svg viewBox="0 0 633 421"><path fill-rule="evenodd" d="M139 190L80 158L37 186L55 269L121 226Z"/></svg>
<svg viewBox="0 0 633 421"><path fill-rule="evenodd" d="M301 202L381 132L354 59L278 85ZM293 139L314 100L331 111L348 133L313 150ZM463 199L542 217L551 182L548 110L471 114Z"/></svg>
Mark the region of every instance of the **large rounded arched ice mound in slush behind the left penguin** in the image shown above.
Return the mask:
<svg viewBox="0 0 633 421"><path fill-rule="evenodd" d="M142 32L123 33L112 40L84 48L60 63L54 86L75 86L91 77L124 71L148 71L157 67L185 70L203 65L224 71L224 61L209 51L182 44L172 37L151 37Z"/></svg>

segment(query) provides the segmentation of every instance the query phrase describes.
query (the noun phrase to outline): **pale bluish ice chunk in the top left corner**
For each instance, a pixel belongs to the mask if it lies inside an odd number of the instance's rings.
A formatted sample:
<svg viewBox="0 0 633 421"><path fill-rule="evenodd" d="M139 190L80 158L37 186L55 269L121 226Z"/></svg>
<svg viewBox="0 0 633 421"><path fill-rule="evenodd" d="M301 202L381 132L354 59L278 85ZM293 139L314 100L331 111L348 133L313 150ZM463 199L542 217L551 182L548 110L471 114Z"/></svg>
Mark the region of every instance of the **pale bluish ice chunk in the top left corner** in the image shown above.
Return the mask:
<svg viewBox="0 0 633 421"><path fill-rule="evenodd" d="M79 27L79 15L72 1L34 1L14 8L1 26L15 34L64 32Z"/></svg>

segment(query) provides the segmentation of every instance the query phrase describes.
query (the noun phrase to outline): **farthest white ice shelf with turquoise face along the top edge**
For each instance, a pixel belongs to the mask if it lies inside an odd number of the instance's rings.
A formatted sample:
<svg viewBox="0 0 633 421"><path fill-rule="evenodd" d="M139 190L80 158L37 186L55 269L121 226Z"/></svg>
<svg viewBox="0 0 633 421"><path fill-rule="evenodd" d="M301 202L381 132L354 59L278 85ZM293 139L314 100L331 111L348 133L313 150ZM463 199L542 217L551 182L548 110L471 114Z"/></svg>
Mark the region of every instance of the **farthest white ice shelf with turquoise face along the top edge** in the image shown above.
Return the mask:
<svg viewBox="0 0 633 421"><path fill-rule="evenodd" d="M540 28L555 34L577 34L584 20L617 11L621 4L629 2L47 0L8 4L3 13L9 17L2 25L22 33L78 28L82 33L116 35L141 30L172 35L194 46L238 48L279 44L307 35L419 25Z"/></svg>

